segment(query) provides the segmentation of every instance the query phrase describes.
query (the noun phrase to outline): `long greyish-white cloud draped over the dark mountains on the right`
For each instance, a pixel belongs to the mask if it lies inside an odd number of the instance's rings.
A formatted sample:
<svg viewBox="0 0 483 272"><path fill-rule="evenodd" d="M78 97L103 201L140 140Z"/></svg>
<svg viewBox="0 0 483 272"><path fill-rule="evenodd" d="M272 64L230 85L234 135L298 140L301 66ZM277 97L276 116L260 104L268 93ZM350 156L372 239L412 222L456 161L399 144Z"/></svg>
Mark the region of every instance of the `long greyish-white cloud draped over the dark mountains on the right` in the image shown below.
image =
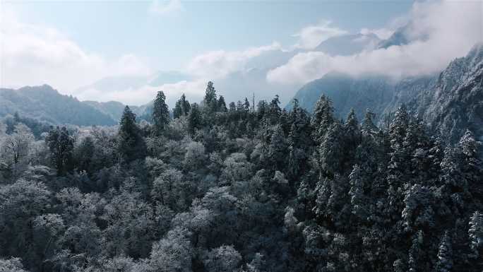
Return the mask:
<svg viewBox="0 0 483 272"><path fill-rule="evenodd" d="M408 45L361 52L352 56L330 57L323 52L294 56L287 64L271 70L267 79L274 83L299 83L320 78L328 71L357 76L381 73L389 76L415 76L444 69L483 40L481 1L416 2L409 14Z"/></svg>

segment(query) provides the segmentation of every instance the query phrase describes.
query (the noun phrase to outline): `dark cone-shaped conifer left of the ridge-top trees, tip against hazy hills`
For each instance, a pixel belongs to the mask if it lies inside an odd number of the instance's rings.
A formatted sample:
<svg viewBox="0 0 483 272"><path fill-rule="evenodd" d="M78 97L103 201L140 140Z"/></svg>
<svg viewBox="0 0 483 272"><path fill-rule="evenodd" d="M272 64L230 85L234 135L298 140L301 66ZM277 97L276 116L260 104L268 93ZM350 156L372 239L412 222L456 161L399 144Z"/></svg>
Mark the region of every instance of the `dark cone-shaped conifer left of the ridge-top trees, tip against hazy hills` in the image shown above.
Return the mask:
<svg viewBox="0 0 483 272"><path fill-rule="evenodd" d="M124 108L119 122L118 137L117 150L122 162L145 158L146 144L141 129L136 124L136 114L133 114L128 106Z"/></svg>

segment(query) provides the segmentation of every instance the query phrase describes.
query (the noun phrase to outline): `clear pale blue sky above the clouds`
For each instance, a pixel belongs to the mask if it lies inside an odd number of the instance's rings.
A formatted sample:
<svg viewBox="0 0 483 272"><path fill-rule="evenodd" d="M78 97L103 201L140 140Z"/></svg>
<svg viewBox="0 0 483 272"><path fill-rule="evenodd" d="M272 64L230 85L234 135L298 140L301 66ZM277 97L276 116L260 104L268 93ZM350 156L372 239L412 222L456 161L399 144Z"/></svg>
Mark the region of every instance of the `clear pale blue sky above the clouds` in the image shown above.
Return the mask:
<svg viewBox="0 0 483 272"><path fill-rule="evenodd" d="M164 14L150 1L7 2L26 23L52 26L108 58L127 52L162 70L181 69L197 54L278 41L292 45L306 25L330 20L350 32L382 28L412 1L186 1ZM160 6L167 5L160 1Z"/></svg>

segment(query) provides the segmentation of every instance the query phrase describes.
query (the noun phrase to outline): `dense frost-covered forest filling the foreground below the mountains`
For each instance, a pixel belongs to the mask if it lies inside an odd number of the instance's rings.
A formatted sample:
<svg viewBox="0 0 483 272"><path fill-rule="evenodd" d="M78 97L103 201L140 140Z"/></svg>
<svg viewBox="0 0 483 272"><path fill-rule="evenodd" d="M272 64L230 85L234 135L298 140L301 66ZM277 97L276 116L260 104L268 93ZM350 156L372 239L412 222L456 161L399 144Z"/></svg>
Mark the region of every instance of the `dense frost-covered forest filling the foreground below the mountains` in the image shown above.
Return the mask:
<svg viewBox="0 0 483 272"><path fill-rule="evenodd" d="M252 103L253 104L253 103ZM481 145L213 83L150 122L0 124L0 271L482 271Z"/></svg>

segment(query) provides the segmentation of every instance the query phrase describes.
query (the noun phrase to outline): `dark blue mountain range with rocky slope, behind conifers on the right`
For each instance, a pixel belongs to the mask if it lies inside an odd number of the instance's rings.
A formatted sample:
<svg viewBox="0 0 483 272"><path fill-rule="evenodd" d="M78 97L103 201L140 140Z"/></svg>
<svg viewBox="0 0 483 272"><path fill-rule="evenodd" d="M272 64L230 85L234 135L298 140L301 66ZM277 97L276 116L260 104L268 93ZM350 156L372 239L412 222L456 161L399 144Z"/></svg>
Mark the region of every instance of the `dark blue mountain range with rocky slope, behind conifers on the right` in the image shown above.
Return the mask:
<svg viewBox="0 0 483 272"><path fill-rule="evenodd" d="M465 129L483 137L483 45L475 45L466 57L455 59L441 73L394 81L384 76L354 78L328 73L306 83L294 96L311 112L322 94L333 100L335 115L344 118L350 108L362 118L367 108L379 122L401 103L434 131L451 141ZM290 110L291 103L287 105ZM483 138L482 138L483 139Z"/></svg>

